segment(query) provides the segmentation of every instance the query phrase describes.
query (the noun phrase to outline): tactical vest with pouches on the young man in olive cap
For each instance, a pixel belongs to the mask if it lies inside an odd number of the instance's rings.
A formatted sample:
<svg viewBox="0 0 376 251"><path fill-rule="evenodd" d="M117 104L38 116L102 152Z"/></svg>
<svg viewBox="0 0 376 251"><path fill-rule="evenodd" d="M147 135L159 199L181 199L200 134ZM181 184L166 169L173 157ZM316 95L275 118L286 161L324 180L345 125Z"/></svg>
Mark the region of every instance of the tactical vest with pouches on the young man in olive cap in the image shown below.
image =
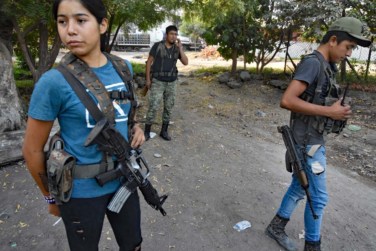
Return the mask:
<svg viewBox="0 0 376 251"><path fill-rule="evenodd" d="M317 83L315 94L312 96L305 90L300 96L300 99L305 100L306 102L313 103L315 105L324 105L324 106L331 106L337 100L340 98L341 95L341 87L337 84L335 80L335 72L332 70L331 67L328 67L326 62L321 59L320 56L317 55L317 53L313 52L311 54L305 55L302 60L308 58L316 58L320 62L320 73L318 75L318 78L315 80ZM299 64L298 64L299 65ZM294 77L294 73L292 75L292 78ZM325 77L327 79L327 87L325 91L325 97L321 97L322 93L322 86L325 81ZM314 83L315 84L315 83ZM345 104L351 105L350 98L345 98ZM306 115L306 114L300 114L300 113L294 113L291 112L290 117L290 127L294 129L294 122L296 119L300 119L303 122L307 124L307 133L311 130L311 128L318 131L320 134L323 134L323 140L327 140L327 134L330 132L334 133L340 133L344 126L346 126L346 120L332 120L329 117L325 116L313 116L313 115ZM306 142L308 143L308 142Z"/></svg>

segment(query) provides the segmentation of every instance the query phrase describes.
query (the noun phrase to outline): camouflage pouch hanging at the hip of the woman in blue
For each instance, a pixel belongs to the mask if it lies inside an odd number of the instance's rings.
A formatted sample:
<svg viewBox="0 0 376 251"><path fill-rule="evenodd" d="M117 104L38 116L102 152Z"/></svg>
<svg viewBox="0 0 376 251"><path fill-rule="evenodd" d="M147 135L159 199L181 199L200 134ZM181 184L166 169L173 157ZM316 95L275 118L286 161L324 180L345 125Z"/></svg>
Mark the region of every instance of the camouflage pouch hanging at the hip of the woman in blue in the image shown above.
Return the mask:
<svg viewBox="0 0 376 251"><path fill-rule="evenodd" d="M70 199L76 158L62 149L54 149L47 161L48 183L51 197L61 205Z"/></svg>

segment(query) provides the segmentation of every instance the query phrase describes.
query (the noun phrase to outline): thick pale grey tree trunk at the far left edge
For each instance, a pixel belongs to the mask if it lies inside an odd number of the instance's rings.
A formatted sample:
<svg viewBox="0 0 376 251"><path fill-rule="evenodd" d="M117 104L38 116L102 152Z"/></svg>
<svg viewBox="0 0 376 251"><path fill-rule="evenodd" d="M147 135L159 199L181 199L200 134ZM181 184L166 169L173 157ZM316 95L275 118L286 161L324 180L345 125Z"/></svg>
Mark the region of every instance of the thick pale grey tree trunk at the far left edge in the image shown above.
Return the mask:
<svg viewBox="0 0 376 251"><path fill-rule="evenodd" d="M11 25L9 25L11 26ZM3 38L4 30L0 30ZM13 76L12 56L0 39L0 133L25 128L23 108ZM9 41L8 41L9 42Z"/></svg>

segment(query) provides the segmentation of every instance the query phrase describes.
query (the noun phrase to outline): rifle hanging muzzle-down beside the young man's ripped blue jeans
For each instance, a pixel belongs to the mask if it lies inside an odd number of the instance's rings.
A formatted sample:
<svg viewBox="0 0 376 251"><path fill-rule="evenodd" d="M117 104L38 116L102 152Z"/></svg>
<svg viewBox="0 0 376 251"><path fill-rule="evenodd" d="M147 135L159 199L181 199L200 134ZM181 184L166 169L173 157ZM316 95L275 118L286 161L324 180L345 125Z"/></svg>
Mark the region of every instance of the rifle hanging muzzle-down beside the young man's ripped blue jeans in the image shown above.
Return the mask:
<svg viewBox="0 0 376 251"><path fill-rule="evenodd" d="M278 126L277 129L278 132L282 134L287 148L288 157L290 157L290 162L287 163L286 161L286 165L291 165L293 167L296 178L300 181L302 189L306 192L307 201L309 203L309 206L311 207L313 218L318 219L318 216L315 214L315 211L312 207L312 198L311 194L309 193L309 181L306 175L306 171L304 170L304 167L302 165L302 159L300 158L299 153L296 149L296 144L293 138L293 134L291 133L291 129L287 125L282 127Z"/></svg>

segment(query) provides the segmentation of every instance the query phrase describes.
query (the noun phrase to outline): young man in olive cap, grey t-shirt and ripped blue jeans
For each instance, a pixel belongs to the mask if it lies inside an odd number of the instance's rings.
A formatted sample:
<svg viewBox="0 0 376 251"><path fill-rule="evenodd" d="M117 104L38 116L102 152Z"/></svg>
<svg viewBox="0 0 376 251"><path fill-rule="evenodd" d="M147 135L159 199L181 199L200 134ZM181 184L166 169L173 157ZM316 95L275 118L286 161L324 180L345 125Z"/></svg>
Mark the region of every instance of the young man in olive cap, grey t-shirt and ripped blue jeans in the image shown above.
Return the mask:
<svg viewBox="0 0 376 251"><path fill-rule="evenodd" d="M327 133L340 131L343 126L341 122L348 119L351 114L350 105L341 106L341 90L334 77L335 71L338 71L335 64L351 56L353 48L357 45L370 46L371 42L362 37L363 29L361 21L353 17L343 17L332 23L317 50L300 61L293 80L280 102L282 108L291 111L290 127L295 134L294 140L306 155L303 156L297 146L300 158L302 161L306 160L303 167L309 180L312 206L318 216L318 219L314 219L309 203L306 203L304 251L321 250L321 219L328 201L324 156ZM328 105L330 98L338 100ZM306 195L295 174L292 177L291 185L276 216L265 230L268 236L287 251L295 251L297 248L287 237L285 225L299 200Z"/></svg>

